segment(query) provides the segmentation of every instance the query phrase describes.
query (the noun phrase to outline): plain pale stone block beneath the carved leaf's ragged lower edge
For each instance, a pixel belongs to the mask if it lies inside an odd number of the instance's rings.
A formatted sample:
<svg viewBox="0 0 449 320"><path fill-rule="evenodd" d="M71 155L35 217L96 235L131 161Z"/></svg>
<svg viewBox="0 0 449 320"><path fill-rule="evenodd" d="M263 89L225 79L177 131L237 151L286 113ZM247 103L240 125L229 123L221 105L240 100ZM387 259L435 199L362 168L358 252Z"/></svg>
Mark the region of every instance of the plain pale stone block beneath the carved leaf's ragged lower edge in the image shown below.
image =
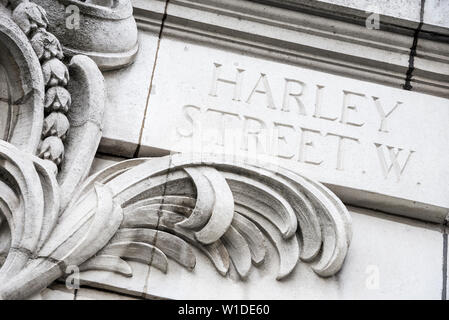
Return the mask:
<svg viewBox="0 0 449 320"><path fill-rule="evenodd" d="M192 272L171 263L168 281L151 268L147 294L169 299L441 299L443 237L437 228L369 210L350 212L353 247L344 270L332 278L320 279L300 267L286 281L273 283L270 274L276 268L267 264L240 283L222 278L200 258ZM267 254L266 259L277 259L274 249Z"/></svg>

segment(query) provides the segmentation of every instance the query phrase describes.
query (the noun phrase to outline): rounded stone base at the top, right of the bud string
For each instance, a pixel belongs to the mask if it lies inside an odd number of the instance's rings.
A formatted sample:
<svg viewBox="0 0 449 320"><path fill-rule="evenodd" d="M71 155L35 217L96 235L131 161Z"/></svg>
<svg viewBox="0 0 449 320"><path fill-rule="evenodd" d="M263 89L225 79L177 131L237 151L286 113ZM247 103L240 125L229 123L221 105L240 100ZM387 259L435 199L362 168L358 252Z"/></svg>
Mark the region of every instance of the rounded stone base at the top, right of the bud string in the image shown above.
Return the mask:
<svg viewBox="0 0 449 320"><path fill-rule="evenodd" d="M130 0L34 1L48 11L51 22L48 30L61 41L66 56L86 55L101 70L120 69L134 62L139 46ZM74 6L80 15L79 22L72 28L61 27L67 18L67 8ZM105 28L113 28L114 32L105 32Z"/></svg>

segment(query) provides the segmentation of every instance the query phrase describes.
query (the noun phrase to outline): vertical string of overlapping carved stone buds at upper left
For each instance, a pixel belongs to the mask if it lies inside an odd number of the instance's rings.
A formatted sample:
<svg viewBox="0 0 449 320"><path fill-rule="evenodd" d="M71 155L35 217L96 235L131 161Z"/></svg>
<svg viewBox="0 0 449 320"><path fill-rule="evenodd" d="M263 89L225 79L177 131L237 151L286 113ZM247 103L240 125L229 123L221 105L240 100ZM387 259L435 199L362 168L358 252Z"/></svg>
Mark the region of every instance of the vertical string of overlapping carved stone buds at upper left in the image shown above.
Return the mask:
<svg viewBox="0 0 449 320"><path fill-rule="evenodd" d="M69 71L61 61L64 57L59 40L48 32L45 10L39 5L21 1L13 11L15 23L30 39L42 66L45 83L45 119L38 155L59 166L64 158L64 144L69 130L67 111L71 105L66 87Z"/></svg>

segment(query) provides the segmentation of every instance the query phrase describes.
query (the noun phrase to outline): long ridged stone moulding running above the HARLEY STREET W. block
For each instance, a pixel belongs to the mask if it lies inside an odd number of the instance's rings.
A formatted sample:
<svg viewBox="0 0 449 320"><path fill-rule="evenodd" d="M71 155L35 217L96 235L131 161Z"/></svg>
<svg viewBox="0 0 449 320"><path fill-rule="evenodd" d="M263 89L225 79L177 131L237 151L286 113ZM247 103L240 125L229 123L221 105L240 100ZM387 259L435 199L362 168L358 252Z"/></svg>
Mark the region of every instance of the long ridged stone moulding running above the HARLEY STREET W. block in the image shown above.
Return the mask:
<svg viewBox="0 0 449 320"><path fill-rule="evenodd" d="M145 2L133 2L134 15L140 28L153 30L161 1ZM163 36L448 97L445 29L435 34L420 21L381 15L380 30L370 30L367 16L320 1L170 0Z"/></svg>

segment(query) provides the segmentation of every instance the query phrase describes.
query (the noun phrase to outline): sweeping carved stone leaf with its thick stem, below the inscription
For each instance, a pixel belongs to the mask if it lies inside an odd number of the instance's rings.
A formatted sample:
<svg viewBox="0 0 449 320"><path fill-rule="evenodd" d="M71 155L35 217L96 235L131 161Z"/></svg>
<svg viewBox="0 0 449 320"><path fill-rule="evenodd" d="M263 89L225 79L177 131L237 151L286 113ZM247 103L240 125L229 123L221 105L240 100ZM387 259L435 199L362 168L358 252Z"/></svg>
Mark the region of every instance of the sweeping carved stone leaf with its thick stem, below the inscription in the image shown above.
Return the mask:
<svg viewBox="0 0 449 320"><path fill-rule="evenodd" d="M223 276L232 263L244 279L264 262L265 239L279 255L278 280L299 259L327 277L340 270L350 244L350 217L340 200L287 169L217 155L133 159L88 178L61 213L58 184L42 160L20 156L7 143L0 143L0 155L7 176L20 177L14 185L29 195L22 202L2 182L9 196L2 211L12 226L0 270L3 299L38 292L69 265L132 276L127 260L167 272L172 259L193 269L191 246ZM34 215L27 214L31 208Z"/></svg>

